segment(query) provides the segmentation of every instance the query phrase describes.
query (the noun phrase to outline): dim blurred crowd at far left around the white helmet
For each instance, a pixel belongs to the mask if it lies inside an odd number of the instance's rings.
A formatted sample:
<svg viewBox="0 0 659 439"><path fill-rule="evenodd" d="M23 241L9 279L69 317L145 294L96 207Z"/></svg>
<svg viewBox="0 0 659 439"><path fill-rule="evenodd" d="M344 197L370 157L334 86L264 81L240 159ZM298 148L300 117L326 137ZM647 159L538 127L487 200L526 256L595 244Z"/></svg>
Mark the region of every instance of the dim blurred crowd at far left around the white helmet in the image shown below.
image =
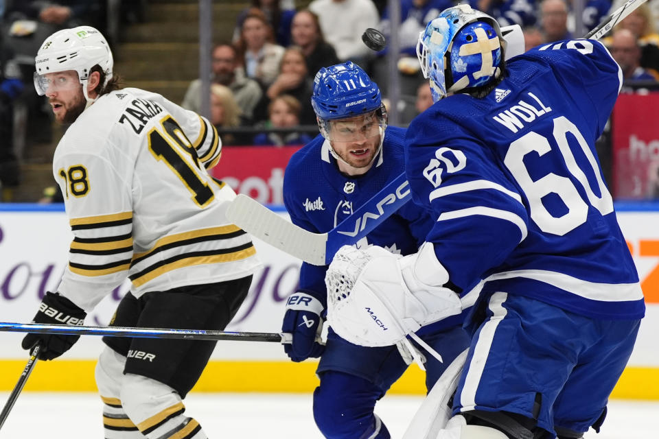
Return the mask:
<svg viewBox="0 0 659 439"><path fill-rule="evenodd" d="M142 21L145 3L118 0L122 16L117 21ZM0 201L11 200L20 183L22 143L52 140L51 108L32 86L34 56L50 34L83 24L96 27L111 44L116 43L106 29L106 0L0 0ZM18 142L16 126L25 134Z"/></svg>

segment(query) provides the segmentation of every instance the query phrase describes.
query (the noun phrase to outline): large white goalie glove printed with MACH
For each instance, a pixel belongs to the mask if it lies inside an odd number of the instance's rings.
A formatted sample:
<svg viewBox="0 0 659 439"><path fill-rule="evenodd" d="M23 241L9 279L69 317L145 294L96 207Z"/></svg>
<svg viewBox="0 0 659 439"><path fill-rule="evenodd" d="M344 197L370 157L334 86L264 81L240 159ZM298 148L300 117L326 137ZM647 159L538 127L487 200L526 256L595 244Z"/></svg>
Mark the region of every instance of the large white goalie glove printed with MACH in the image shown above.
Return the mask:
<svg viewBox="0 0 659 439"><path fill-rule="evenodd" d="M343 246L325 275L327 321L351 343L390 346L462 312L458 294L442 286L447 282L432 243L405 257L378 246Z"/></svg>

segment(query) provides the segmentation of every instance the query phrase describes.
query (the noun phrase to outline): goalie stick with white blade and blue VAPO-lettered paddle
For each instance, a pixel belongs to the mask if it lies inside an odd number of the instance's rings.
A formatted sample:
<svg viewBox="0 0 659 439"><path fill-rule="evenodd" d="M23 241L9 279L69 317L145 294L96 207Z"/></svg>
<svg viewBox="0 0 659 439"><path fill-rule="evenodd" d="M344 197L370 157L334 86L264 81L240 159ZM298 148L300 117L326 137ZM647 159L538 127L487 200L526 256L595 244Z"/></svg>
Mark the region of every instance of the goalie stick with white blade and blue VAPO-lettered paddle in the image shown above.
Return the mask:
<svg viewBox="0 0 659 439"><path fill-rule="evenodd" d="M327 265L341 246L355 244L411 198L405 174L400 174L327 233L296 226L242 194L229 205L227 217L279 250L313 265Z"/></svg>

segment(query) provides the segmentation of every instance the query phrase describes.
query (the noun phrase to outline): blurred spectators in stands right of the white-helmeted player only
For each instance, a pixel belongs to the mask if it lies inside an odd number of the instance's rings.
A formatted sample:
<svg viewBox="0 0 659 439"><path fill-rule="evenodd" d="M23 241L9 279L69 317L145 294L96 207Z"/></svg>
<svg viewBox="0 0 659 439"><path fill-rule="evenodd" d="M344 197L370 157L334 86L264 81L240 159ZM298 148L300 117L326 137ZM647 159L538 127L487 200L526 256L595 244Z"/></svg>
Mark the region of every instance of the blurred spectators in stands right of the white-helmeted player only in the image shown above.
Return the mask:
<svg viewBox="0 0 659 439"><path fill-rule="evenodd" d="M452 0L401 1L397 110L402 125L432 104L416 59L419 32L453 4ZM494 16L502 26L522 26L527 49L574 37L575 17L564 0L470 0L470 4ZM617 6L610 0L586 1L583 25L587 30L594 28ZM659 0L650 0L605 38L627 82L659 80L657 14ZM346 60L364 68L386 97L387 49L375 53L362 43L367 27L391 34L386 1L313 0L308 8L296 10L290 0L253 0L238 16L233 40L218 43L211 54L211 81L221 86L211 89L213 123L229 133L236 127L314 126L309 99L314 75L323 66ZM199 91L200 81L194 80L183 101L185 108L200 110ZM225 145L294 145L308 137L297 132L233 132L224 134Z"/></svg>

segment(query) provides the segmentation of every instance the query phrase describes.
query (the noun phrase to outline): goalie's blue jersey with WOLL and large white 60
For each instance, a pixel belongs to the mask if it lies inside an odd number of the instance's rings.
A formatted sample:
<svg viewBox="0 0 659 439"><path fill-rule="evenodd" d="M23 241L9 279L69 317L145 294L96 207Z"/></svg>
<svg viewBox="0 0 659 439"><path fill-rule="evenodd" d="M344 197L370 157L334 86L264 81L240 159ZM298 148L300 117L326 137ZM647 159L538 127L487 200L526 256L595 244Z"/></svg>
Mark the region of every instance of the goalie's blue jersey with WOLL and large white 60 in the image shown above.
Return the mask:
<svg viewBox="0 0 659 439"><path fill-rule="evenodd" d="M583 316L645 313L631 254L603 182L595 140L621 71L594 40L512 58L482 99L459 94L415 119L406 137L414 202L458 287L508 292Z"/></svg>

